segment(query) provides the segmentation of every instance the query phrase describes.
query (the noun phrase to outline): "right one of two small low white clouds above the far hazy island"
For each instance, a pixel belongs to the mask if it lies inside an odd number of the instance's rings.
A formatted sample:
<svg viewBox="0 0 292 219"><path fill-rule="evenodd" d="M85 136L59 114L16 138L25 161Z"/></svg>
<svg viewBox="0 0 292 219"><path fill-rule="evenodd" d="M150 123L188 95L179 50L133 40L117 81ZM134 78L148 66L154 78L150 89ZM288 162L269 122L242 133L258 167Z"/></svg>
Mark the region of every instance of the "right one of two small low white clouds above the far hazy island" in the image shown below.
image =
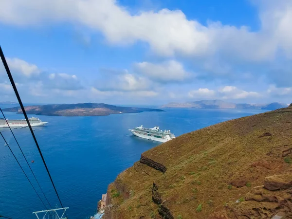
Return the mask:
<svg viewBox="0 0 292 219"><path fill-rule="evenodd" d="M225 86L218 90L222 99L245 99L248 97L260 97L258 92L243 91L234 86Z"/></svg>

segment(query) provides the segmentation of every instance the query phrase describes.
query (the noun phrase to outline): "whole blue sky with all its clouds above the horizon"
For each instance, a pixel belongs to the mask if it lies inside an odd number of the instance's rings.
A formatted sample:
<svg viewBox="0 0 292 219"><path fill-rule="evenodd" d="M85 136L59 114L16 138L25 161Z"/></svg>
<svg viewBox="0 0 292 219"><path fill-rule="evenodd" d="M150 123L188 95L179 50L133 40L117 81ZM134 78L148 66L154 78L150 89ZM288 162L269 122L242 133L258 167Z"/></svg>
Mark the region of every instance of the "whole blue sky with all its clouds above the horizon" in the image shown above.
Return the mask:
<svg viewBox="0 0 292 219"><path fill-rule="evenodd" d="M0 2L25 103L292 102L291 0Z"/></svg>

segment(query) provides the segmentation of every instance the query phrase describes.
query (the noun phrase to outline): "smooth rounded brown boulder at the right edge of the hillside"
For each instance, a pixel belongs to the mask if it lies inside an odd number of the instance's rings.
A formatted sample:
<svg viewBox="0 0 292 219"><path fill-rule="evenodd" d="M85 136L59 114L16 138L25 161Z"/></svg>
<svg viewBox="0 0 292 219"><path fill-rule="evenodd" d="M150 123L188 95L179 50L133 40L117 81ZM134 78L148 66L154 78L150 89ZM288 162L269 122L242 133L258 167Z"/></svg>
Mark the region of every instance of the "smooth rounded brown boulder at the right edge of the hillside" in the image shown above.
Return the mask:
<svg viewBox="0 0 292 219"><path fill-rule="evenodd" d="M266 177L265 188L271 191L288 189L292 187L292 174L275 175Z"/></svg>

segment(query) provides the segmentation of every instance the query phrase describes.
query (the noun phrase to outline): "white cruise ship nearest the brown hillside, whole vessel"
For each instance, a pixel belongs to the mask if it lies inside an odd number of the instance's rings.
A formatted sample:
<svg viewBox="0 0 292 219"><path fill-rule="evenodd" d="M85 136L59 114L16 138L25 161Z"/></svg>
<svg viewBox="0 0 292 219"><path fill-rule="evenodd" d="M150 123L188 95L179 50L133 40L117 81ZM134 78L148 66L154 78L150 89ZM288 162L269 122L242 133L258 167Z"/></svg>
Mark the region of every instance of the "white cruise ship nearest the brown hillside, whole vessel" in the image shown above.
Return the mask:
<svg viewBox="0 0 292 219"><path fill-rule="evenodd" d="M174 139L175 136L170 130L160 130L158 126L154 128L144 128L143 126L136 127L133 129L129 129L133 135L138 136L140 138L146 138L150 141L158 141L158 142L167 142L171 139Z"/></svg>

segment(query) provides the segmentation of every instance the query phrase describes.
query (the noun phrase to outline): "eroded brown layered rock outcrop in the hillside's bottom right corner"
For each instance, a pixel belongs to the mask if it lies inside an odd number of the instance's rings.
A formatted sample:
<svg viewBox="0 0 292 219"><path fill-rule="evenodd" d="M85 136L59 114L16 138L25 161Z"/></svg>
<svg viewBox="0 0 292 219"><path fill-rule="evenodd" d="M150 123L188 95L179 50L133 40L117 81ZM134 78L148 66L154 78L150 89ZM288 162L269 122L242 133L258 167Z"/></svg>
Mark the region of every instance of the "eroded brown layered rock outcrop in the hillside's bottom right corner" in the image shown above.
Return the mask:
<svg viewBox="0 0 292 219"><path fill-rule="evenodd" d="M247 193L245 201L228 204L222 215L227 219L271 219L276 215L292 218L292 175L266 177L264 183Z"/></svg>

